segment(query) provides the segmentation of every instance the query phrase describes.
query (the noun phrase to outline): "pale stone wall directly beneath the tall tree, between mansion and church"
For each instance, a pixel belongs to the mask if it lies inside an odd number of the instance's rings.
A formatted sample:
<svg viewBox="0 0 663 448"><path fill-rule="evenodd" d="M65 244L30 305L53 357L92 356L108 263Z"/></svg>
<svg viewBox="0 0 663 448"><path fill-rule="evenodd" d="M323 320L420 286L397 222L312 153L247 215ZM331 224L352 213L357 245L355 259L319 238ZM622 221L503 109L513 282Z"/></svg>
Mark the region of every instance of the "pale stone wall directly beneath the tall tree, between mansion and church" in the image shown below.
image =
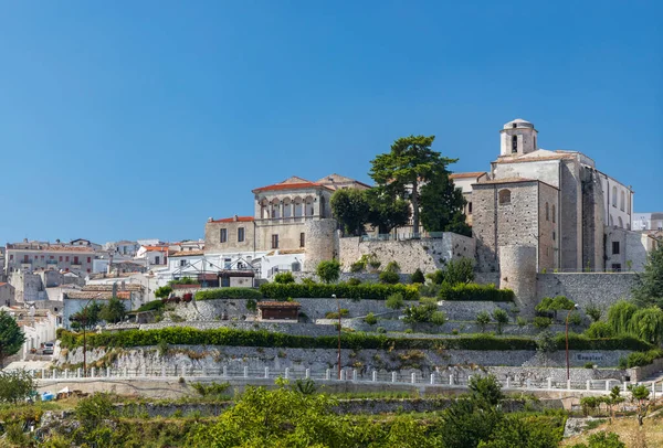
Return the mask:
<svg viewBox="0 0 663 448"><path fill-rule="evenodd" d="M339 241L339 259L345 271L362 255L372 254L381 268L397 262L401 273L421 269L425 274L443 268L451 259L474 258L474 252L473 238L450 232L441 238L361 242L359 237L348 237Z"/></svg>

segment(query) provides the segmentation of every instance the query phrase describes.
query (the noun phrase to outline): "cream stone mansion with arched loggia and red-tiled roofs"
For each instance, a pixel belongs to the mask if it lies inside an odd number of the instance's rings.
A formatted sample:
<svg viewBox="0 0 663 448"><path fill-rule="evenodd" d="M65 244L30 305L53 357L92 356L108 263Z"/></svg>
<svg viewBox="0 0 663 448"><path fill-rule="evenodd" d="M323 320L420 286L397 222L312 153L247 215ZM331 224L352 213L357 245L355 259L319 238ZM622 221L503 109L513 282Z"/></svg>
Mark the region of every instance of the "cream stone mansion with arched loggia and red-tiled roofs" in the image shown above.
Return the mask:
<svg viewBox="0 0 663 448"><path fill-rule="evenodd" d="M337 256L336 221L329 201L338 189L370 186L339 174L317 181L298 177L254 189L253 216L208 220L204 257L232 269L250 265L260 277L308 269Z"/></svg>

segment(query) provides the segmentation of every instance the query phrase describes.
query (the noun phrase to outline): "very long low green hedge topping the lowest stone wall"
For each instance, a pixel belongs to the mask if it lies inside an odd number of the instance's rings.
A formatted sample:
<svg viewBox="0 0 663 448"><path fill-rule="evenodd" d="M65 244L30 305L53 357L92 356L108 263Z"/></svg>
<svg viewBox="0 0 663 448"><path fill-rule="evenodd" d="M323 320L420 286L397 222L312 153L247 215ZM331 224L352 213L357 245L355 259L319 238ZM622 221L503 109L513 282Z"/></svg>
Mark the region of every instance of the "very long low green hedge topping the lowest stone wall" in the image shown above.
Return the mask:
<svg viewBox="0 0 663 448"><path fill-rule="evenodd" d="M62 330L62 329L61 329ZM59 330L62 348L73 349L83 345L83 337L66 330ZM572 338L571 338L572 337ZM263 346L292 349L336 349L336 335L307 337L284 333L272 333L265 330L238 330L220 328L214 330L197 330L188 327L173 327L161 330L126 330L122 332L88 333L87 345L98 346L145 346L166 342L176 345L228 345L228 346ZM562 350L559 340L558 349ZM564 342L564 338L561 340ZM649 344L631 339L591 340L579 334L569 334L572 350L638 350ZM453 339L429 338L388 338L383 334L361 332L344 333L341 346L352 350L536 350L536 341L525 337L496 338L491 334L463 335Z"/></svg>

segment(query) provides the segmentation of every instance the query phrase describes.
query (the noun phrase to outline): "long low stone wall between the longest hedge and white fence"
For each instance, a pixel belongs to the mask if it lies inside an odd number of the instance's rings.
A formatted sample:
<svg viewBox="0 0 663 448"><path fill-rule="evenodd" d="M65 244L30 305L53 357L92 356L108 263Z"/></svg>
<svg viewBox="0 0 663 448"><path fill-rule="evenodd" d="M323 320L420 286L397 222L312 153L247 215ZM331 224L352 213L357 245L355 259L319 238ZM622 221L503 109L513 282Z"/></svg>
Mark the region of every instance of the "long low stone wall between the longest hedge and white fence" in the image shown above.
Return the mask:
<svg viewBox="0 0 663 448"><path fill-rule="evenodd" d="M110 349L113 350L113 349ZM114 369L140 370L144 365L147 370L160 371L162 366L172 370L181 369L209 369L219 370L227 365L232 372L241 372L244 366L251 371L264 371L265 366L275 371L291 369L312 369L316 372L334 369L337 365L338 351L335 349L284 349L284 348L253 348L253 346L201 346L201 345L170 345L168 354L161 356L156 346L136 349L115 349L114 356L106 356L106 350L95 349L87 351L87 363L95 366L99 361L105 366L108 359L113 359ZM612 367L618 365L621 358L625 358L630 351L596 351L578 352L571 350L570 365L582 367L587 359L591 356L592 363L599 367ZM77 365L83 362L83 350L69 351L55 360L56 365ZM341 350L341 364L344 367L357 369L361 377L371 374L372 371L421 371L423 375L432 372L453 369L455 366L523 366L523 367L565 367L566 356L564 351L549 353L547 356L532 350L512 351L476 351L476 350ZM576 372L573 370L572 380ZM589 369L588 369L589 371Z"/></svg>

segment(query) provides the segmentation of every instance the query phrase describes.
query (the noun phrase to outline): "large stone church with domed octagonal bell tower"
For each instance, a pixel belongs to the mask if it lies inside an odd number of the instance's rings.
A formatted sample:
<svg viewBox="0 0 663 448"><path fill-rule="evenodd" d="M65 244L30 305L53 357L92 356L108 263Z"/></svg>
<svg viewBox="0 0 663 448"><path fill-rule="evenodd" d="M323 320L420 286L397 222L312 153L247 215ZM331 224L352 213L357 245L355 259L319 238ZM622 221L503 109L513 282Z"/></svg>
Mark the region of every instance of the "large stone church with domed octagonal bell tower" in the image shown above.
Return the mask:
<svg viewBox="0 0 663 448"><path fill-rule="evenodd" d="M631 188L599 171L581 152L540 149L529 121L505 124L499 138L490 173L477 178L470 192L464 188L478 268L499 270L499 248L513 245L535 247L538 271L625 268L629 256L635 256L625 253L624 244L631 231Z"/></svg>

